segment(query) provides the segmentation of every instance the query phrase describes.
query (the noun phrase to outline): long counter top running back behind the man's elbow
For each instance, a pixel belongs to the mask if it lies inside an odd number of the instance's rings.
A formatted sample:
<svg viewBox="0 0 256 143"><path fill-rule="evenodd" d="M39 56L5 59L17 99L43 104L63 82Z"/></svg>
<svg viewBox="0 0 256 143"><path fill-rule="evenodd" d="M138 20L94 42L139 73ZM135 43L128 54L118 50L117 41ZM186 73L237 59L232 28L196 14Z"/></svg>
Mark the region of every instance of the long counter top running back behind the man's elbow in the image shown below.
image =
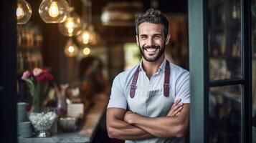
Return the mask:
<svg viewBox="0 0 256 143"><path fill-rule="evenodd" d="M19 137L19 143L85 143L92 142L100 119L103 117L108 98L95 96L95 104L85 113L84 124L77 132L53 134L52 137Z"/></svg>

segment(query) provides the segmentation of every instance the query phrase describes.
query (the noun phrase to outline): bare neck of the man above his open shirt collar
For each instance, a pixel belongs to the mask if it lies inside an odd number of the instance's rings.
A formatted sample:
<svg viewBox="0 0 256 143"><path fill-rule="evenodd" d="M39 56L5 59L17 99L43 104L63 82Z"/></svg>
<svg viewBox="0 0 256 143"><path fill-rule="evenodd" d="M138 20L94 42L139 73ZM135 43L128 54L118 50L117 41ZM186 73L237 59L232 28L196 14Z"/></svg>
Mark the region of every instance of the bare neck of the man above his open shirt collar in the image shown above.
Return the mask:
<svg viewBox="0 0 256 143"><path fill-rule="evenodd" d="M164 56L161 56L157 61L154 62L149 62L146 61L146 59L142 59L142 68L146 72L146 75L148 79L150 79L153 74L156 74L158 71L159 67L161 66L163 62Z"/></svg>

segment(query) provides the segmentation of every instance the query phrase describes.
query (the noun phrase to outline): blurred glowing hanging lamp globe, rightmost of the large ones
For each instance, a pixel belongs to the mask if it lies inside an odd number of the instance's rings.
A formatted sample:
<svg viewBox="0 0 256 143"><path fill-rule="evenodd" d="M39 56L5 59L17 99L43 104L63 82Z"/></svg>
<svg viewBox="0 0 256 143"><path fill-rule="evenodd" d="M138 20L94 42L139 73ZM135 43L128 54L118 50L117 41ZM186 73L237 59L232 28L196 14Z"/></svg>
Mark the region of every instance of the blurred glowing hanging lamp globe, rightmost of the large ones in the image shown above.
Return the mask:
<svg viewBox="0 0 256 143"><path fill-rule="evenodd" d="M87 29L83 29L81 34L77 36L78 43L85 44L95 44L96 41L96 33L93 29L92 25L89 25Z"/></svg>

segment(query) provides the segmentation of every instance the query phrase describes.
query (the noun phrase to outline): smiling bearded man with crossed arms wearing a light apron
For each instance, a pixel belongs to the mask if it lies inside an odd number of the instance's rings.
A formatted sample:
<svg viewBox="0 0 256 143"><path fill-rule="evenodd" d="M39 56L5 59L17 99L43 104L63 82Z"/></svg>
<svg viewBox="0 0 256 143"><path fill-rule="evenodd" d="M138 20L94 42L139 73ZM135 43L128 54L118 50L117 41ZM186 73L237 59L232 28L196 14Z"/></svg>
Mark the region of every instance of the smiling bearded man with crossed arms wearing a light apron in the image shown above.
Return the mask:
<svg viewBox="0 0 256 143"><path fill-rule="evenodd" d="M108 135L125 142L184 142L189 127L189 71L166 60L169 21L148 9L136 16L143 58L113 81L107 109Z"/></svg>

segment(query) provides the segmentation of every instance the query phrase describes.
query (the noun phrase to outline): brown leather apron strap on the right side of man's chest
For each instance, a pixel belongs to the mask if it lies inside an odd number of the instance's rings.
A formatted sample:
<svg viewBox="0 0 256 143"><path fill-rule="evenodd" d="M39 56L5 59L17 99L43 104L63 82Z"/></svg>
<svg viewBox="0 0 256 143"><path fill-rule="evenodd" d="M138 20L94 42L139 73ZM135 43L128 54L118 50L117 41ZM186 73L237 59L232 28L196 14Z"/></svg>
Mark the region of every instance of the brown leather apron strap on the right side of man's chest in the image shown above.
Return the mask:
<svg viewBox="0 0 256 143"><path fill-rule="evenodd" d="M170 92L170 63L166 60L166 68L164 69L163 95L169 97Z"/></svg>

